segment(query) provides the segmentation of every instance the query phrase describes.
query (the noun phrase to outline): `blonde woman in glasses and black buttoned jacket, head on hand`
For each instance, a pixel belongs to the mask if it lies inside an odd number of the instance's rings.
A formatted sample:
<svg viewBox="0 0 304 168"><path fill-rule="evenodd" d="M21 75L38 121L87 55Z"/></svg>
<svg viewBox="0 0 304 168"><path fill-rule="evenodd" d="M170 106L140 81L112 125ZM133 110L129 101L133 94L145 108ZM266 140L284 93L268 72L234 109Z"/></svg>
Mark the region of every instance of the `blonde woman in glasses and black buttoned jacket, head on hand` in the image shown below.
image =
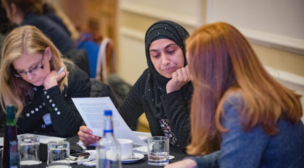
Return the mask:
<svg viewBox="0 0 304 168"><path fill-rule="evenodd" d="M82 118L71 98L90 96L89 77L63 59L38 28L25 25L7 36L0 79L2 109L6 104L17 107L19 134L76 134Z"/></svg>

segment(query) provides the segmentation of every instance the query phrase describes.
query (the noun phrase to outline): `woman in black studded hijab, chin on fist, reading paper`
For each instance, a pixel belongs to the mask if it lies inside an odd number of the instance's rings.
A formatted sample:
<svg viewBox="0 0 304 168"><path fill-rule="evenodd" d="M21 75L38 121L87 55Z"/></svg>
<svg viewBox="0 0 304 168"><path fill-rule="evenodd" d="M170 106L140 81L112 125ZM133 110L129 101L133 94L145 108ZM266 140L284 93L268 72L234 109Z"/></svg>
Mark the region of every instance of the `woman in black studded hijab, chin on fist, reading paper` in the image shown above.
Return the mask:
<svg viewBox="0 0 304 168"><path fill-rule="evenodd" d="M186 66L184 40L189 33L172 21L158 21L145 37L148 69L127 94L119 113L131 126L145 112L152 136L166 136L182 149L190 141L192 84ZM99 139L81 126L79 139L85 144Z"/></svg>

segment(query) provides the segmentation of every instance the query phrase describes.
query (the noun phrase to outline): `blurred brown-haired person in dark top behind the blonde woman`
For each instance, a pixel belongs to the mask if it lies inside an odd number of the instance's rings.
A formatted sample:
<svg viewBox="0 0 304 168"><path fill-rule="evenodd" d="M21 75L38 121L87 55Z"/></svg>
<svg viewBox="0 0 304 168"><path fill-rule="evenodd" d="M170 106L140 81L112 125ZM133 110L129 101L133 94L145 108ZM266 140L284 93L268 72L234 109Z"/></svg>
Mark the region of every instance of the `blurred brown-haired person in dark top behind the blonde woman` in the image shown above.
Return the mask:
<svg viewBox="0 0 304 168"><path fill-rule="evenodd" d="M11 23L18 26L36 26L51 39L63 55L73 48L68 29L60 18L51 15L50 7L45 5L44 0L1 0L1 2Z"/></svg>

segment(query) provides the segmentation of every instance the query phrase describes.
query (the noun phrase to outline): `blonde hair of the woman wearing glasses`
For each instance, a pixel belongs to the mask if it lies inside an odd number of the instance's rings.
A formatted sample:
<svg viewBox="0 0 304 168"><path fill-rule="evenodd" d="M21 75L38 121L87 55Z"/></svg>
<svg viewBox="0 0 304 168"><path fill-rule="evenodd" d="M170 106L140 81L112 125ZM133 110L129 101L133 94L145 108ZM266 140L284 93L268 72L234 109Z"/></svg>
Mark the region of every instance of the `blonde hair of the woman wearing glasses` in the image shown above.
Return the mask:
<svg viewBox="0 0 304 168"><path fill-rule="evenodd" d="M64 60L60 51L52 44L38 28L31 25L25 25L14 29L6 37L1 54L0 67L0 103L4 110L5 104L13 104L17 108L16 118L20 116L23 106L27 104L27 96L33 98L33 90L29 83L22 77L14 75L12 62L24 54L40 53L43 54L47 47L51 49L50 69L58 71L61 67L66 69ZM68 74L58 82L60 91L68 86Z"/></svg>

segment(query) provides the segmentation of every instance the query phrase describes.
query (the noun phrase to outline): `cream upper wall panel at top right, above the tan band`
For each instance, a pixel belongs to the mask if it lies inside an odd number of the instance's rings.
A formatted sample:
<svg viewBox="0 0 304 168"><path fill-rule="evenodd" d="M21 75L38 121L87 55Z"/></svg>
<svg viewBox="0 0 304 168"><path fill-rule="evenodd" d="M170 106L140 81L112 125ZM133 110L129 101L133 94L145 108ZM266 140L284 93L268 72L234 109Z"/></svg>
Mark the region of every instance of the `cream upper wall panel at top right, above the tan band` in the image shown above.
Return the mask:
<svg viewBox="0 0 304 168"><path fill-rule="evenodd" d="M207 0L207 22L224 21L247 38L304 55L304 0Z"/></svg>

